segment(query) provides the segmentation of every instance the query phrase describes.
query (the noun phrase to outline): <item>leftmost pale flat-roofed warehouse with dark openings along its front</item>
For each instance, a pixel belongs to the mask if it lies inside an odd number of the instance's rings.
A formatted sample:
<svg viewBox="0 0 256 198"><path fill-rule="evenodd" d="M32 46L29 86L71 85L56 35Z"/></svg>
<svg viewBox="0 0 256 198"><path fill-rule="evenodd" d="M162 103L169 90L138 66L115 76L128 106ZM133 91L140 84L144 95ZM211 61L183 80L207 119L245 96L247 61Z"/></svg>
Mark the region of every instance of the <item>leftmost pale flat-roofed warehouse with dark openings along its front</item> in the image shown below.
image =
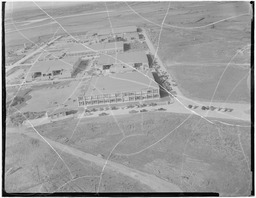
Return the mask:
<svg viewBox="0 0 256 198"><path fill-rule="evenodd" d="M73 65L61 59L40 61L32 65L26 81L70 78L72 70Z"/></svg>

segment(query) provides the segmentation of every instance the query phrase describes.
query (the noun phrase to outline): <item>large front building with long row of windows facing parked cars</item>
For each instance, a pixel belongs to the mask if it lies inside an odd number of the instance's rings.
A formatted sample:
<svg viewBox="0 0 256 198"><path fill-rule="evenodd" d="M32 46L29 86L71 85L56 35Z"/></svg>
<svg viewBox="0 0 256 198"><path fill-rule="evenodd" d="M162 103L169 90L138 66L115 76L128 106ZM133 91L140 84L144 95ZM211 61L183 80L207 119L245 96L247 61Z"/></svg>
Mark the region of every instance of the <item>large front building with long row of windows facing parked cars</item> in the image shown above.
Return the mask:
<svg viewBox="0 0 256 198"><path fill-rule="evenodd" d="M78 106L135 102L160 98L152 73L117 73L92 79L87 92L78 97Z"/></svg>

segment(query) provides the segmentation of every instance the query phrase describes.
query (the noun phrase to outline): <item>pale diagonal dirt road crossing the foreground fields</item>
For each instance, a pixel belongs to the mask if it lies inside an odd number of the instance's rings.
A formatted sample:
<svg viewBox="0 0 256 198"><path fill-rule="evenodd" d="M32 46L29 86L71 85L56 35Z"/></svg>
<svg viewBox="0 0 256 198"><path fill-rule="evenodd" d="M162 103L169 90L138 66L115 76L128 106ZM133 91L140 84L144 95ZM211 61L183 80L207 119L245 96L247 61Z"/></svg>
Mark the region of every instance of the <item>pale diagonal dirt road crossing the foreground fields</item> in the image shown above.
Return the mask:
<svg viewBox="0 0 256 198"><path fill-rule="evenodd" d="M31 138L35 138L40 141L44 141L35 131L30 132L30 131L26 131L26 129L21 129L21 128L18 128L18 129L7 128L7 134L8 133L23 133ZM65 153L68 153L70 155L79 157L83 160L93 162L97 166L103 167L106 162L105 159L102 159L100 157L91 155L89 153L85 153L83 151L80 151L80 150L72 148L70 146L50 140L48 138L45 138L45 139L54 148L64 151ZM150 187L152 190L154 190L156 192L182 192L178 186L176 186L168 181L165 181L163 179L160 179L159 177L156 177L155 175L151 175L151 174L139 171L139 170L135 170L135 169L129 168L127 166L124 166L122 164L116 163L116 162L108 161L108 163L106 165L106 169L110 169L112 171L121 173L125 176L131 177L134 180L137 180L140 183L147 185L148 187Z"/></svg>

